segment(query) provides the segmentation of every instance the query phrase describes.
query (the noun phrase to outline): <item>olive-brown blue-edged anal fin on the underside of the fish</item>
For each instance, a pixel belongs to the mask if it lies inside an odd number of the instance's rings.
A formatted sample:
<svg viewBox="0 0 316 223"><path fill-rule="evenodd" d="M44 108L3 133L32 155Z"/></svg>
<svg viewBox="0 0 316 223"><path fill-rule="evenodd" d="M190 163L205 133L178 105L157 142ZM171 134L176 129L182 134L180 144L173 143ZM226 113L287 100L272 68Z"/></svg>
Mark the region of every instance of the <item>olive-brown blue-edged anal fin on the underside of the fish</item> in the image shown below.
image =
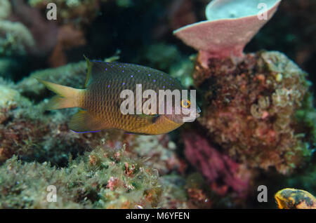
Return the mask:
<svg viewBox="0 0 316 223"><path fill-rule="evenodd" d="M95 133L107 128L106 123L84 110L74 114L68 126L76 133Z"/></svg>

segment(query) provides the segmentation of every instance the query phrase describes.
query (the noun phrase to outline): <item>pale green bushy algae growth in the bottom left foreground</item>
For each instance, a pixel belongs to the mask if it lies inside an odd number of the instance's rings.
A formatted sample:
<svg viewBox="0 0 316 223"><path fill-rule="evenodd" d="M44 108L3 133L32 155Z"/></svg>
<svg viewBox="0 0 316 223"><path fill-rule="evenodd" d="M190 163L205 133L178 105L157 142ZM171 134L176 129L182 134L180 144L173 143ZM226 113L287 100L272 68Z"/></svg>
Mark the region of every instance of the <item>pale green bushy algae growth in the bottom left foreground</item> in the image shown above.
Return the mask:
<svg viewBox="0 0 316 223"><path fill-rule="evenodd" d="M49 163L24 163L14 156L0 166L0 207L157 207L162 194L159 177L138 159L129 158L124 148L119 151L118 161L117 151L99 147L60 169ZM135 166L133 175L124 173L124 163ZM47 202L49 185L57 188L58 202Z"/></svg>

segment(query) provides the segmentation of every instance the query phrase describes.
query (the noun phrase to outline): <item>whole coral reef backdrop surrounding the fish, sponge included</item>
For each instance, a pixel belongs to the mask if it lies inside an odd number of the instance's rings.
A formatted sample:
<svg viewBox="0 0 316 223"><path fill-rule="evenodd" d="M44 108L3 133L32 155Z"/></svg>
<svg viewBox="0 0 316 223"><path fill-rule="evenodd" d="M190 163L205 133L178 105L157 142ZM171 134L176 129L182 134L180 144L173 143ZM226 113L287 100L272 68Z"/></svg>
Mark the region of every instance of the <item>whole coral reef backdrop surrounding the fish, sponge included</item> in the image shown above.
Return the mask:
<svg viewBox="0 0 316 223"><path fill-rule="evenodd" d="M0 208L277 208L282 188L315 195L315 2L263 2L261 29L258 1L1 0ZM44 111L52 93L35 77L83 88L82 55L115 51L105 61L196 89L202 116L167 135L77 134L67 126L77 109ZM284 207L311 206L290 192Z"/></svg>

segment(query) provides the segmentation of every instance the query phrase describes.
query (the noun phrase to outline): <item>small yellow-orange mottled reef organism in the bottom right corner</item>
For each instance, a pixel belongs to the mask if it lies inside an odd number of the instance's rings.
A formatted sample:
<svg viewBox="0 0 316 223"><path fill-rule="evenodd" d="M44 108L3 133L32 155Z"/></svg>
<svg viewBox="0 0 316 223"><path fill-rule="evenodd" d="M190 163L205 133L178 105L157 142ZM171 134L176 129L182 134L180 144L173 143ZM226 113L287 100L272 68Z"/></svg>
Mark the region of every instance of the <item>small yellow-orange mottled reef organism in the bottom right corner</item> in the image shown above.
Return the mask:
<svg viewBox="0 0 316 223"><path fill-rule="evenodd" d="M277 191L275 201L279 209L316 209L316 198L308 191L286 188Z"/></svg>

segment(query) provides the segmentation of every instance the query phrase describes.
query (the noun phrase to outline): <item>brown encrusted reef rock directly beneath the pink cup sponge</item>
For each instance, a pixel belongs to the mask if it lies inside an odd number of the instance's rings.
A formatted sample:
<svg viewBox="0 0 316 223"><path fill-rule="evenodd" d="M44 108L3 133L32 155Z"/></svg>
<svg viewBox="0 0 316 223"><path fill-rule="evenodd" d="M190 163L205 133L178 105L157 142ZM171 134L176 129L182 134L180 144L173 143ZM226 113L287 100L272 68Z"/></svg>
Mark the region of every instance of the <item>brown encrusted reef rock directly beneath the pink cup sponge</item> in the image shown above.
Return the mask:
<svg viewBox="0 0 316 223"><path fill-rule="evenodd" d="M287 174L310 160L315 123L295 119L310 97L310 82L285 55L212 59L207 69L198 62L193 76L204 95L199 121L235 161Z"/></svg>

